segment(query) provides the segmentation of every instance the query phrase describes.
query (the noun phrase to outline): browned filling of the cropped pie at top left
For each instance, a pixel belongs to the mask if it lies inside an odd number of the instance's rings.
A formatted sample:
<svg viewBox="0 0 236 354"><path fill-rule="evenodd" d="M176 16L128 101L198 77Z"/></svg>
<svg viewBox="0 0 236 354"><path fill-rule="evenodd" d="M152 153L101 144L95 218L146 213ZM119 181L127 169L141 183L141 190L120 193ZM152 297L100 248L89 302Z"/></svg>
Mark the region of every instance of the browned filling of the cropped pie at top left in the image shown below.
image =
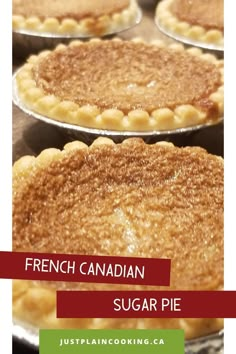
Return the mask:
<svg viewBox="0 0 236 354"><path fill-rule="evenodd" d="M41 20L73 18L77 21L120 12L129 6L129 0L13 0L13 13Z"/></svg>

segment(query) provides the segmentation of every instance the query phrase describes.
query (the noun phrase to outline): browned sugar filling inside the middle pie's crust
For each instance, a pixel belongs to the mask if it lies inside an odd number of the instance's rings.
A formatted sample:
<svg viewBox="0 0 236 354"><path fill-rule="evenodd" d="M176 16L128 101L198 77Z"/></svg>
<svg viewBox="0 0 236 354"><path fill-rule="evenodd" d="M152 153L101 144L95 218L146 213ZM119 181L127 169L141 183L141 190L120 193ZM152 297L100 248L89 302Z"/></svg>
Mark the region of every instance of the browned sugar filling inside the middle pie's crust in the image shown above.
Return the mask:
<svg viewBox="0 0 236 354"><path fill-rule="evenodd" d="M174 109L192 104L217 114L209 100L221 85L219 70L185 52L134 42L90 42L54 51L34 69L37 86L47 94L79 105Z"/></svg>

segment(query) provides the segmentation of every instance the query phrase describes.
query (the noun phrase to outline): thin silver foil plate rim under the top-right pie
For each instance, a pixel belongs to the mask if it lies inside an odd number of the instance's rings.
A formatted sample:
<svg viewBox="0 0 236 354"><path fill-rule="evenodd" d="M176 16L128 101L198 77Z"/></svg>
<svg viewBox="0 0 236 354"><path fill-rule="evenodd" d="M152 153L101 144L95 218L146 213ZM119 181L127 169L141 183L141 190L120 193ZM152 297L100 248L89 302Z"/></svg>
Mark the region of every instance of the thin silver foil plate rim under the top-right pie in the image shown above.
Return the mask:
<svg viewBox="0 0 236 354"><path fill-rule="evenodd" d="M196 41L191 38L181 36L180 34L169 30L168 28L166 28L165 26L163 26L161 24L161 22L158 19L158 16L155 16L155 23L156 23L157 27L159 28L159 30L163 34L165 34L166 36L168 36L178 42L182 42L183 44L186 44L188 46L194 46L194 47L199 47L201 49L213 51L213 52L215 52L216 55L219 55L219 54L222 55L224 52L224 47L221 45Z"/></svg>

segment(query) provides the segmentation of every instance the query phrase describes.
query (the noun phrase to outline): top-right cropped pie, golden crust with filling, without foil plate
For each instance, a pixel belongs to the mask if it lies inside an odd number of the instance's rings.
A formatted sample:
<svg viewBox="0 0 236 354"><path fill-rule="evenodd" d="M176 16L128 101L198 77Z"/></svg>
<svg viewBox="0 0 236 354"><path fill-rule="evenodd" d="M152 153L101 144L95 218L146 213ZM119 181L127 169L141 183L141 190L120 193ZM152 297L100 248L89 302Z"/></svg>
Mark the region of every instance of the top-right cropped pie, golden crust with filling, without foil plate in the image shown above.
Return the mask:
<svg viewBox="0 0 236 354"><path fill-rule="evenodd" d="M163 0L156 18L173 34L208 45L224 46L223 0Z"/></svg>

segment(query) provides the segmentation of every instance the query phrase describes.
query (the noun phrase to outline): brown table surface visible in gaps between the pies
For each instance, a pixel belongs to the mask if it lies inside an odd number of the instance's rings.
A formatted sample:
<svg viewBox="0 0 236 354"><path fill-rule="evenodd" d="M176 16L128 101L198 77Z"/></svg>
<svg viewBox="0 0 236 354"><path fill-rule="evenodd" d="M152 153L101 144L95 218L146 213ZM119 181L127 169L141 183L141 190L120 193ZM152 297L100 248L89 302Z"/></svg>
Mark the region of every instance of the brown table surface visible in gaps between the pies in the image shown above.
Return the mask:
<svg viewBox="0 0 236 354"><path fill-rule="evenodd" d="M140 1L143 18L139 25L120 33L123 39L142 37L146 40L164 39L172 40L159 32L154 23L154 10L157 1ZM26 58L17 58L13 51L13 71L17 70ZM43 149L49 147L62 148L70 140L69 136L62 134L55 127L36 121L27 116L18 107L13 105L13 162L23 155L37 155ZM170 138L169 140L173 140ZM203 129L188 134L179 139L174 139L179 146L197 145L206 148L209 152L223 156L223 124ZM31 351L20 343L14 341L13 353L29 354Z"/></svg>

